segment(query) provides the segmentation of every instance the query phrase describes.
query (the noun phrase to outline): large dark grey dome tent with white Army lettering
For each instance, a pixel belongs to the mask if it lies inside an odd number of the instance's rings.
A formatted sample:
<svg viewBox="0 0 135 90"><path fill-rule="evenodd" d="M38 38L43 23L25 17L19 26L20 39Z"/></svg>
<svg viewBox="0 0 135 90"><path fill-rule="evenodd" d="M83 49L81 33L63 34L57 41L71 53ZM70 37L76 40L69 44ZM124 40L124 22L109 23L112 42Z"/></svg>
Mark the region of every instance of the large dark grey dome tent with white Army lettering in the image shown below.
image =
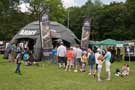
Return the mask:
<svg viewBox="0 0 135 90"><path fill-rule="evenodd" d="M79 39L74 35L74 33L66 28L64 25L57 22L50 22L52 41L55 44L56 41L62 40L67 45L73 45L79 43ZM25 27L23 27L11 41L28 41L30 49L33 50L33 56L36 60L40 59L41 55L41 38L39 21L32 22Z"/></svg>

